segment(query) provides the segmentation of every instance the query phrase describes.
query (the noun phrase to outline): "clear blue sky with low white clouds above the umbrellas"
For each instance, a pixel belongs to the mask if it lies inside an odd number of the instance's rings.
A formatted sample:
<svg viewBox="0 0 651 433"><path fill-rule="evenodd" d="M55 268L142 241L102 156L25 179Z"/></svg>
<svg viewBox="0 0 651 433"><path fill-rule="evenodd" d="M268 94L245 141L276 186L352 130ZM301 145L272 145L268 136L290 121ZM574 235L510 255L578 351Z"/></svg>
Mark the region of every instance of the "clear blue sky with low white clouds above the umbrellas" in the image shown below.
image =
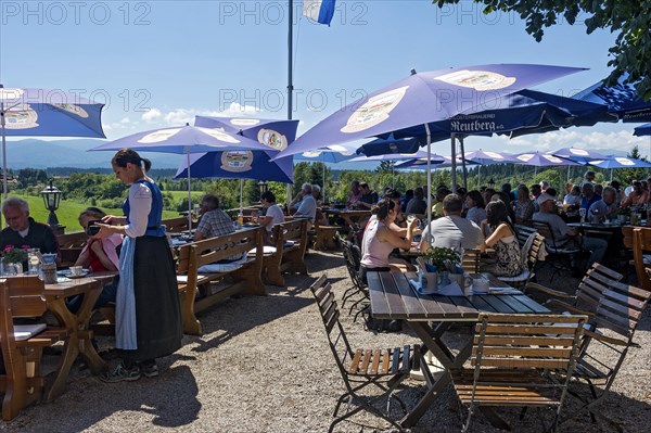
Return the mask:
<svg viewBox="0 0 651 433"><path fill-rule="evenodd" d="M0 82L82 89L110 102L106 135L192 122L195 114L286 116L286 1L0 2ZM299 12L301 3L295 10ZM417 71L483 63L590 69L538 90L571 95L609 74L615 35L583 23L538 43L515 14L485 16L462 1L339 1L332 25L295 18L294 118L299 133L339 107ZM635 125L600 125L515 140L472 138L467 149L523 152L566 145L649 153ZM447 145L443 153L449 153Z"/></svg>

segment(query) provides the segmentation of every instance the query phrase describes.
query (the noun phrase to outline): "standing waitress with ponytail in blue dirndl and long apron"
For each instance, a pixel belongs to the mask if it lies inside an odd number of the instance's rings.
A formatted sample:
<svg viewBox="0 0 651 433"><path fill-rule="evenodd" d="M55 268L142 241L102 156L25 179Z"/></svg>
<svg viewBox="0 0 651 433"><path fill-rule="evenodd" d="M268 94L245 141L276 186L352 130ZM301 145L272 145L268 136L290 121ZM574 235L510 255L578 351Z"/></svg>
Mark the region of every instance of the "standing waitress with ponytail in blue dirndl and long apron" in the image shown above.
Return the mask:
<svg viewBox="0 0 651 433"><path fill-rule="evenodd" d="M176 352L183 334L174 259L161 226L163 198L145 175L152 163L123 149L112 165L115 176L129 186L125 216L103 217L94 238L125 237L115 302L115 341L123 360L101 377L105 382L122 382L157 377L156 358Z"/></svg>

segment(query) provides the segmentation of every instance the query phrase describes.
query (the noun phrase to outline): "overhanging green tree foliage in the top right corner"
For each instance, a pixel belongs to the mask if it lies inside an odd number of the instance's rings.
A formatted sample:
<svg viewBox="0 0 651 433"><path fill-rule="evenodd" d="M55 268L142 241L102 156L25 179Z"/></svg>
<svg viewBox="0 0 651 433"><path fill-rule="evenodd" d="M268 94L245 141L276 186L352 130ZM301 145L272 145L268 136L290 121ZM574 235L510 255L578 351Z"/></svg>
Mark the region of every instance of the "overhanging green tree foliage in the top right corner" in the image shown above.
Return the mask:
<svg viewBox="0 0 651 433"><path fill-rule="evenodd" d="M439 8L459 0L433 0ZM646 100L651 99L651 0L474 0L484 3L483 12L513 11L525 21L526 31L536 41L542 39L545 28L561 22L571 25L580 21L589 35L598 28L617 34L609 49L608 62L613 67L607 84L614 86L625 74L625 82L636 84Z"/></svg>

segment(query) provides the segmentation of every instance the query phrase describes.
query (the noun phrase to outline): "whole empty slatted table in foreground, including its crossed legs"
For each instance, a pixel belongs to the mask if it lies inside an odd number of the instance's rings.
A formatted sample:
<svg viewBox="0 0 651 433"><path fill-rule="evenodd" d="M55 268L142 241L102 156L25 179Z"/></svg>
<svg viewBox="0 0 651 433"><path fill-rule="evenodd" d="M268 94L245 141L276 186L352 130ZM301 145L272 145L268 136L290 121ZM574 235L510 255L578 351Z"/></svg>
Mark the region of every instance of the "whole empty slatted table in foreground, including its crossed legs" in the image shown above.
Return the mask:
<svg viewBox="0 0 651 433"><path fill-rule="evenodd" d="M482 273L482 276L488 278L490 288L509 288L508 284L488 273ZM400 424L405 428L410 428L418 422L450 382L449 370L463 366L471 355L472 335L456 355L443 340L443 335L452 324L476 322L482 313L550 313L549 309L515 289L505 290L500 294L474 294L472 296L423 295L409 284L409 279L417 279L416 272L369 272L367 278L372 316L376 319L405 320L421 339L426 351L432 352L446 369L446 372L436 380L429 371L425 372L427 392L417 406L400 420ZM433 323L430 324L430 322ZM485 415L492 421L499 421L492 416L489 410Z"/></svg>

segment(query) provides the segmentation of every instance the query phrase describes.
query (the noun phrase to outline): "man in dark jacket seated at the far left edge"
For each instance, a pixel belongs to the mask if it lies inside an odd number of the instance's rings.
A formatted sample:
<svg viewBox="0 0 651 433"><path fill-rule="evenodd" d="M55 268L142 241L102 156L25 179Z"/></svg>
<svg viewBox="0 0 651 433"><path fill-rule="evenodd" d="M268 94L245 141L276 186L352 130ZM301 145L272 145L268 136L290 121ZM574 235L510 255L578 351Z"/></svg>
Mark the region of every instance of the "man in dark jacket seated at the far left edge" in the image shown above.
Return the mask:
<svg viewBox="0 0 651 433"><path fill-rule="evenodd" d="M2 202L2 215L9 227L0 232L0 251L8 246L16 249L39 249L41 253L59 254L56 235L44 224L36 222L29 216L29 204L15 196ZM58 257L58 262L60 258ZM27 264L23 264L26 268Z"/></svg>

